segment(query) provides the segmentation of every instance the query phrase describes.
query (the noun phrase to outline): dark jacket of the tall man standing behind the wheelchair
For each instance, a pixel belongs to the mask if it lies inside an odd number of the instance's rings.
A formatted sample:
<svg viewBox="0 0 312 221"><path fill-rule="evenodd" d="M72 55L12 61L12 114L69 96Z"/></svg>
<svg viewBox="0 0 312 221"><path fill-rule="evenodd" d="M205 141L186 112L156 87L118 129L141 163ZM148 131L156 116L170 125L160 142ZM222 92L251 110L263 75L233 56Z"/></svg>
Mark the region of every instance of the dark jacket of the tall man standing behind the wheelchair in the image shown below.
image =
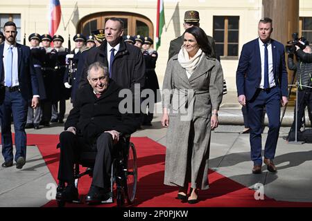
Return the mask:
<svg viewBox="0 0 312 221"><path fill-rule="evenodd" d="M88 50L79 88L89 84L87 68L96 61L101 61L108 68L107 41L103 41L101 46ZM125 43L122 39L112 64L112 79L121 88L130 88L132 91L135 91L135 84L140 84L141 88L144 87L145 64L142 52L136 46Z"/></svg>

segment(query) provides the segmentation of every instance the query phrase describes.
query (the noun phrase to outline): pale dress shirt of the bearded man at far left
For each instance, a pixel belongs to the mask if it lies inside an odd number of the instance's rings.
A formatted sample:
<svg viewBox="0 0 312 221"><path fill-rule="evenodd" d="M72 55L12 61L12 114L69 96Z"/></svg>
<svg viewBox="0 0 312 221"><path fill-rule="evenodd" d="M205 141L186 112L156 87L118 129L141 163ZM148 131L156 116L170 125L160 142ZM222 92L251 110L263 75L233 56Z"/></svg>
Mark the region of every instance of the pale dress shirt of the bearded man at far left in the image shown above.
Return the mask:
<svg viewBox="0 0 312 221"><path fill-rule="evenodd" d="M12 59L12 86L19 86L19 68L18 68L18 53L17 53L17 46L16 44L12 45L12 53L13 53L13 59ZM8 57L8 50L10 48L10 45L4 41L4 48L3 48L3 69L4 69L4 82L6 82L6 79L8 77L11 77L6 73L6 61ZM4 83L6 84L6 83ZM6 85L4 85L6 86Z"/></svg>

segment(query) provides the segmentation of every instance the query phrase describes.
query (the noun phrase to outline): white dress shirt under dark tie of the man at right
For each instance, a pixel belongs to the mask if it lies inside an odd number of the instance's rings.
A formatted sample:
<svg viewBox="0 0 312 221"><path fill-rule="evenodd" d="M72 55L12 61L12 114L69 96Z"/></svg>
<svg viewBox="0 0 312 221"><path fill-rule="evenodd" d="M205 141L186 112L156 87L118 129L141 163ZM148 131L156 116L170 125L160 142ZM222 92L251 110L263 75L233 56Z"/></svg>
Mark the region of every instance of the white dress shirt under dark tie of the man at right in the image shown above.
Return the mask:
<svg viewBox="0 0 312 221"><path fill-rule="evenodd" d="M259 88L264 88L264 43L259 39L259 48L261 56L261 82ZM270 88L275 86L275 79L273 73L273 57L272 57L272 44L268 41L268 74Z"/></svg>

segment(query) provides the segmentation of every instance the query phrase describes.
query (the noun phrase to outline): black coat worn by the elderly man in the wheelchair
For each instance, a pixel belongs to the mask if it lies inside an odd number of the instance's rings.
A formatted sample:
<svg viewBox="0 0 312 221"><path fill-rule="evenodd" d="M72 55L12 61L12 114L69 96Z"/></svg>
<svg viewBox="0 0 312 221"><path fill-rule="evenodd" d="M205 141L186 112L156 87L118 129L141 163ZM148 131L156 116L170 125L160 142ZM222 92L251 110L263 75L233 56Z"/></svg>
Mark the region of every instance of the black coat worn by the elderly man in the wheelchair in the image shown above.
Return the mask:
<svg viewBox="0 0 312 221"><path fill-rule="evenodd" d="M119 131L131 134L138 128L134 114L119 112L119 91L121 88L110 81L107 90L97 98L90 85L78 89L76 102L73 104L65 130L69 126L77 129L77 134L90 144L104 131Z"/></svg>

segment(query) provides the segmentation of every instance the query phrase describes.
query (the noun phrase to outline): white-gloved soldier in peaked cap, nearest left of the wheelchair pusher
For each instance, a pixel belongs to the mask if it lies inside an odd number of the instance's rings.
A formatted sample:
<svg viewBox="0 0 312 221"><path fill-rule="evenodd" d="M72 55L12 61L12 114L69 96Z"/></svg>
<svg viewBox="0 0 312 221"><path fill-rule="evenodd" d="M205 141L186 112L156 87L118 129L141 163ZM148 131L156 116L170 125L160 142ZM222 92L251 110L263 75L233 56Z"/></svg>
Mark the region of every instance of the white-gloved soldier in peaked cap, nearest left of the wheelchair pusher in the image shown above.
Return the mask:
<svg viewBox="0 0 312 221"><path fill-rule="evenodd" d="M75 48L67 55L67 71L64 76L63 82L66 88L71 88L71 103L75 103L76 92L78 89L78 82L80 76L78 76L78 61L80 59L81 51L85 48L85 36L77 34L73 37L75 41Z"/></svg>

